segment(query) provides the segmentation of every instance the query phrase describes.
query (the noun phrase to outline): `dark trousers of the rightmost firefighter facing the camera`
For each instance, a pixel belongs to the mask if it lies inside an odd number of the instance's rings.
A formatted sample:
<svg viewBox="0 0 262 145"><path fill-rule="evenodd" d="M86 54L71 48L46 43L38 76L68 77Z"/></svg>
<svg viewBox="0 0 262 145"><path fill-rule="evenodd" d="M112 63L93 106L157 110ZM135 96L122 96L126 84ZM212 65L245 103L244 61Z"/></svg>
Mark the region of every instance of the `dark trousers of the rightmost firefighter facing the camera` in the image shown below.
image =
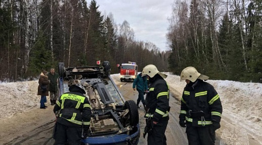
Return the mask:
<svg viewBox="0 0 262 145"><path fill-rule="evenodd" d="M215 131L212 125L193 127L187 123L186 128L189 145L215 145Z"/></svg>

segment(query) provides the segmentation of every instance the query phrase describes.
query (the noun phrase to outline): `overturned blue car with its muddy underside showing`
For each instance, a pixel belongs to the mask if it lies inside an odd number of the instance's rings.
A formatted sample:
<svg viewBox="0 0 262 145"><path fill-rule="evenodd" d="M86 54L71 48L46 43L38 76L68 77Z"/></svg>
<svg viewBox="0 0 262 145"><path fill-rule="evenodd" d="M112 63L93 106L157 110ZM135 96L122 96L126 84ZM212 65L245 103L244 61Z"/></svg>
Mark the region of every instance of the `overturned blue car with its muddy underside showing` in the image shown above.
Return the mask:
<svg viewBox="0 0 262 145"><path fill-rule="evenodd" d="M85 145L137 145L140 137L136 103L125 101L110 77L108 61L99 66L65 68L59 63L59 96L72 84L84 86L91 105L90 134Z"/></svg>

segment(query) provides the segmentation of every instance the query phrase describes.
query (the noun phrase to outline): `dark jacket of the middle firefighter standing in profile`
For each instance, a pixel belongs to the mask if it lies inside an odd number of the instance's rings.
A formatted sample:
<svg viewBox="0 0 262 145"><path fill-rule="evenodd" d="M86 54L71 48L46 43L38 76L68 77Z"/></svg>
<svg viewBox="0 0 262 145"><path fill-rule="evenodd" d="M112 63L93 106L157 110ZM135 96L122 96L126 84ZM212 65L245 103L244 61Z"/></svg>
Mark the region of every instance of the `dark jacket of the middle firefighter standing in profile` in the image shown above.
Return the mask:
<svg viewBox="0 0 262 145"><path fill-rule="evenodd" d="M148 112L145 117L151 117L153 121L159 122L162 119L169 119L169 87L167 82L160 76L155 75L149 79L151 85L146 95L146 107Z"/></svg>

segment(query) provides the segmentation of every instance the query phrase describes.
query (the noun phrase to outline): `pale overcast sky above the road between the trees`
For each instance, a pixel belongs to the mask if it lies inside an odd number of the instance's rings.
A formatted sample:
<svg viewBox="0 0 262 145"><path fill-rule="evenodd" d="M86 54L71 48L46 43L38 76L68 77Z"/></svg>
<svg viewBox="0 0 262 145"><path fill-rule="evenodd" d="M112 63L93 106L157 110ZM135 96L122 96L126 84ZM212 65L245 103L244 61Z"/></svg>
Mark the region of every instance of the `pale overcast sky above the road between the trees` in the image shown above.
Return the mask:
<svg viewBox="0 0 262 145"><path fill-rule="evenodd" d="M168 17L171 17L173 0L96 0L101 14L114 16L116 24L128 21L135 39L154 43L160 50L168 50Z"/></svg>

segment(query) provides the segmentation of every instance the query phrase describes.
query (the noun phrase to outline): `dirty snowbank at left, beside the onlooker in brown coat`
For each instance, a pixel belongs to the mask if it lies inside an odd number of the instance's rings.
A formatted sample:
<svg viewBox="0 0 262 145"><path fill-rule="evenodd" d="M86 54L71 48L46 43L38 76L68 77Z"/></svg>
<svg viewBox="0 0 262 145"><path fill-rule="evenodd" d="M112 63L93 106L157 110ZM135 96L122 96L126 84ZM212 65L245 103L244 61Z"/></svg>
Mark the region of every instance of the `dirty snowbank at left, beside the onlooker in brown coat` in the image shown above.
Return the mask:
<svg viewBox="0 0 262 145"><path fill-rule="evenodd" d="M0 84L0 119L12 117L36 106L40 106L37 95L38 81L24 81Z"/></svg>

